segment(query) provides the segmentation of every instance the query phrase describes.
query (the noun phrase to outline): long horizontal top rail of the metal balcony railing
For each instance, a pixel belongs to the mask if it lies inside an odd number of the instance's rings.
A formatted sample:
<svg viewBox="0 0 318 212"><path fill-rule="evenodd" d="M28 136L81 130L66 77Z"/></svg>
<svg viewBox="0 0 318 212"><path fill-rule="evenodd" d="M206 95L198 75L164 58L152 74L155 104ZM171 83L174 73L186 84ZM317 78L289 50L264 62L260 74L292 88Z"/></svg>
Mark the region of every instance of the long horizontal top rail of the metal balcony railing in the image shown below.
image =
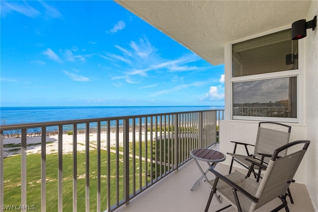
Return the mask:
<svg viewBox="0 0 318 212"><path fill-rule="evenodd" d="M16 124L2 124L0 125L0 131L14 130L14 129L27 129L36 127L46 127L46 126L57 126L57 125L68 125L68 124L79 124L88 122L99 122L99 121L113 121L122 120L130 118L142 118L160 115L170 115L170 114L182 114L191 112L205 112L213 110L223 110L224 109L211 109L211 110L193 110L193 111L181 111L181 112L166 112L166 113L153 113L153 114L141 114L141 115L126 115L126 116L112 116L112 117L101 117L101 118L85 118L85 119L74 119L74 120L62 120L62 121L46 121L46 122L33 122L33 123L16 123Z"/></svg>

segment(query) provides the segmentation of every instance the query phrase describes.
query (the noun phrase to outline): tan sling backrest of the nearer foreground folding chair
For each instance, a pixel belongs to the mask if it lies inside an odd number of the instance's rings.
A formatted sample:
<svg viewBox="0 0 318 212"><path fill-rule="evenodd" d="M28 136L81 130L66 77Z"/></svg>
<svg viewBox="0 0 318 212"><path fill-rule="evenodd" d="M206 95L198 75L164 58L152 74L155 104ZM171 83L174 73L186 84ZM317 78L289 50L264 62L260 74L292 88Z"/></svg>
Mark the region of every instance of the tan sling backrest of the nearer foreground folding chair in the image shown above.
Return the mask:
<svg viewBox="0 0 318 212"><path fill-rule="evenodd" d="M252 204L250 211L254 211L269 201L286 194L309 143L310 141L308 140L294 141L274 151L255 195L259 201L258 203ZM300 146L303 148L297 152L276 159L281 151L297 144L304 144Z"/></svg>

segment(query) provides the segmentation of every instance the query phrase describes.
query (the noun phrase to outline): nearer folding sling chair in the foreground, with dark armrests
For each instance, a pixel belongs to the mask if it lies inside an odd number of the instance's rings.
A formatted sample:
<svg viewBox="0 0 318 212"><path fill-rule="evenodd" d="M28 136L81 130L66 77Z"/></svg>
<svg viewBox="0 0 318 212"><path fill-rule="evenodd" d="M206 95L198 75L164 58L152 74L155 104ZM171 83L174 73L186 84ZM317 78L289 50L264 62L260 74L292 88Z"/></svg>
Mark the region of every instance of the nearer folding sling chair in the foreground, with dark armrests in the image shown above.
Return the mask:
<svg viewBox="0 0 318 212"><path fill-rule="evenodd" d="M282 204L272 212L279 211L283 208L285 208L286 212L289 212L286 201L286 192L305 155L309 143L310 141L308 140L299 140L277 148L272 153L272 157L267 167L246 159L252 164L246 176L239 171L223 176L210 168L209 171L215 174L216 178L208 183L212 188L212 191L205 212L208 211L215 193L222 197L226 202L229 202L239 212L253 212L277 197L282 201ZM279 157L279 153L287 150L291 146L294 146L294 151L297 149L298 151ZM253 166L260 166L263 169L266 169L260 183L256 182L254 178L249 177ZM231 205L218 212L231 207Z"/></svg>

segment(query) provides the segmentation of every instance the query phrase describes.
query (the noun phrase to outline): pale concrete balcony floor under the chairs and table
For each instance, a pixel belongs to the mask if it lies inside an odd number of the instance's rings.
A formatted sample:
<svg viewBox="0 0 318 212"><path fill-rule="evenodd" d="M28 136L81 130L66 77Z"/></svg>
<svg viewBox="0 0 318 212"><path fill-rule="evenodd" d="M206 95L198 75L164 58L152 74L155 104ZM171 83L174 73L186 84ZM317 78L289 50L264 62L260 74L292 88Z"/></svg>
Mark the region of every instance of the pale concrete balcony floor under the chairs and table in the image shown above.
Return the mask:
<svg viewBox="0 0 318 212"><path fill-rule="evenodd" d="M213 149L218 149L214 146ZM199 161L204 170L208 168L206 162ZM216 170L222 174L227 174L229 166L222 163L217 164ZM245 173L245 170L236 169ZM194 160L187 162L179 168L177 172L171 173L147 191L138 195L130 201L128 206L117 209L117 212L203 212L211 192L210 187L204 180L194 191L190 191L193 184L199 179L200 171ZM212 173L208 173L208 179L214 179ZM290 190L294 199L294 204L290 203L287 197L288 207L291 212L315 212L307 188L304 184L292 183ZM221 199L222 201L222 199ZM256 212L268 212L281 204L277 198L270 203L259 208ZM217 211L228 204L220 204L213 197L209 212ZM230 207L224 212L235 212L236 209ZM284 209L281 211L285 211Z"/></svg>

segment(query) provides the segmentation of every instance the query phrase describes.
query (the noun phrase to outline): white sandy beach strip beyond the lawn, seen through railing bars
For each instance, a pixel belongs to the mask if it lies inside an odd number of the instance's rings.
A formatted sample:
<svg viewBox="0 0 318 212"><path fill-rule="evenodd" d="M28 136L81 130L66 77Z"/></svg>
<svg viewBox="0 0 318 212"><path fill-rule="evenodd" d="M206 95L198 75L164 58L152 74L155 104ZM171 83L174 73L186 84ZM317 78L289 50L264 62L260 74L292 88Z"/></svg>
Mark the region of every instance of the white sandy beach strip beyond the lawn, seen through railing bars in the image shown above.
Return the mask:
<svg viewBox="0 0 318 212"><path fill-rule="evenodd" d="M130 132L129 138L132 142L132 132ZM142 132L142 140L145 140L144 132ZM136 132L136 138L139 138L139 132ZM155 136L154 136L155 137ZM148 133L148 139L150 138L150 133ZM101 148L107 147L107 133L101 133ZM41 136L28 136L27 137L27 154L35 154L41 152ZM89 146L90 149L96 149L97 133L89 133ZM53 154L58 152L58 135L48 135L46 136L46 153ZM123 144L123 132L119 133L118 143L121 146ZM3 138L3 148L4 157L20 154L21 153L21 138ZM110 133L110 146L116 145L116 133ZM77 135L77 150L85 151L85 134ZM73 152L73 135L63 134L63 153Z"/></svg>

